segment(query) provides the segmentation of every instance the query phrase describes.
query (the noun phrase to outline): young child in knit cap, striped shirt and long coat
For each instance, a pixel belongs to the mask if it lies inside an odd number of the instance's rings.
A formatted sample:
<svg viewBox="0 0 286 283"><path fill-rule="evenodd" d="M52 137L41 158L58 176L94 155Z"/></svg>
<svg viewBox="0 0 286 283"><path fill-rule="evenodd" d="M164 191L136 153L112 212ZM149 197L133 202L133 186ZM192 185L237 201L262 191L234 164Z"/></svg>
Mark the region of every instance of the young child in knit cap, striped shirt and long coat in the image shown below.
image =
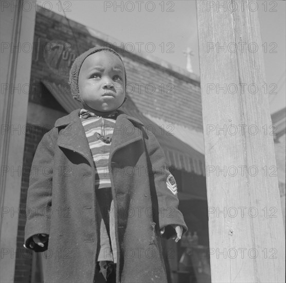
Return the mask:
<svg viewBox="0 0 286 283"><path fill-rule="evenodd" d="M177 242L187 227L155 136L118 110L123 62L91 48L69 83L83 108L58 119L35 152L25 246L47 251L46 282L167 282L159 235Z"/></svg>

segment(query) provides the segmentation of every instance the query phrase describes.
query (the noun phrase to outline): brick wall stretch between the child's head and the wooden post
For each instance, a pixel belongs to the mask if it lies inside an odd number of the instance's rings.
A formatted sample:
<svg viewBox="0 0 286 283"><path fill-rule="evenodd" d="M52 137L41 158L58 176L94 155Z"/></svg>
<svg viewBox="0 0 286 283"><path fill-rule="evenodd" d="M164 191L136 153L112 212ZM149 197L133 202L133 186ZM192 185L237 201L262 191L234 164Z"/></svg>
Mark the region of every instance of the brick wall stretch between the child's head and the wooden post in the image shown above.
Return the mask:
<svg viewBox="0 0 286 283"><path fill-rule="evenodd" d="M128 93L142 113L202 131L200 87L171 76L152 63L140 64L124 58ZM141 86L141 92L139 85ZM132 89L134 86L134 89ZM133 91L134 90L134 91Z"/></svg>

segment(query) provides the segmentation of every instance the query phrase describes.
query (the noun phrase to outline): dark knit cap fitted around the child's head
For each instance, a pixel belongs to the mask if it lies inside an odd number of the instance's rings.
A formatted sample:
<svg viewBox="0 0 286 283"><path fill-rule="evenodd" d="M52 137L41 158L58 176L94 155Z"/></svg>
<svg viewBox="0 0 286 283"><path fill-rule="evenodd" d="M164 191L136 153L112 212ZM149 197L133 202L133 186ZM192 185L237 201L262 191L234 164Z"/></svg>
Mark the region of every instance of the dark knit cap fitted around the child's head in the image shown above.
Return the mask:
<svg viewBox="0 0 286 283"><path fill-rule="evenodd" d="M98 47L93 47L91 49L88 49L87 51L83 52L80 56L78 56L73 65L71 65L70 71L69 71L69 80L68 83L70 84L70 90L71 90L71 94L73 95L74 99L78 100L79 102L82 102L82 99L80 97L79 94L79 86L78 86L78 79L79 79L79 71L80 68L83 64L83 61L90 55L102 51L102 50L106 50L106 51L110 51L113 54L115 54L122 62L123 64L123 68L124 68L124 76L125 76L125 90L126 90L126 70L125 70L125 66L124 63L120 57L120 55L113 49L109 48L109 47L104 47L104 46L98 46Z"/></svg>

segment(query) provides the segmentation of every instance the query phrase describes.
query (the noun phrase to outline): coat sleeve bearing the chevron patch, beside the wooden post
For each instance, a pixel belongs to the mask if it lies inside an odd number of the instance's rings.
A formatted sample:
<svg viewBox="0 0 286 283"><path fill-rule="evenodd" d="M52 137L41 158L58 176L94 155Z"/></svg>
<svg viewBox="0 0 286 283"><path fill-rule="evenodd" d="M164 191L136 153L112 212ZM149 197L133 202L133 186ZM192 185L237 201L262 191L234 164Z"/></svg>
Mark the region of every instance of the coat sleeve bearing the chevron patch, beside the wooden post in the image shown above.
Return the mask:
<svg viewBox="0 0 286 283"><path fill-rule="evenodd" d="M148 155L152 166L152 179L158 201L159 228L165 227L163 236L169 239L176 234L174 228L170 225L182 226L183 233L188 228L183 214L178 210L179 201L175 179L168 169L165 154L152 133L148 133Z"/></svg>

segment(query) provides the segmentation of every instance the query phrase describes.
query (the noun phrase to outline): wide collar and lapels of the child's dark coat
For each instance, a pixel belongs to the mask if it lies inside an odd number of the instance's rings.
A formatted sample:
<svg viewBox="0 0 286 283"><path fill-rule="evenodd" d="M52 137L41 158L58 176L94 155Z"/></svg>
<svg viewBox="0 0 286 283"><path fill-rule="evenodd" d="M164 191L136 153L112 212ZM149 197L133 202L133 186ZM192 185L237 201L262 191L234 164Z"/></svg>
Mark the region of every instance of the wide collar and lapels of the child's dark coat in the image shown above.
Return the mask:
<svg viewBox="0 0 286 283"><path fill-rule="evenodd" d="M59 147L80 153L90 162L90 164L93 164L93 157L84 128L79 118L79 112L80 109L77 109L56 121L56 128L65 127L60 132L57 143ZM114 133L112 137L111 156L120 148L142 138L138 131L133 131L132 133L129 132L129 127L134 127L132 123L144 126L144 124L138 119L127 115L123 111L118 112L119 114L115 123L117 134ZM124 131L128 132L124 134Z"/></svg>

